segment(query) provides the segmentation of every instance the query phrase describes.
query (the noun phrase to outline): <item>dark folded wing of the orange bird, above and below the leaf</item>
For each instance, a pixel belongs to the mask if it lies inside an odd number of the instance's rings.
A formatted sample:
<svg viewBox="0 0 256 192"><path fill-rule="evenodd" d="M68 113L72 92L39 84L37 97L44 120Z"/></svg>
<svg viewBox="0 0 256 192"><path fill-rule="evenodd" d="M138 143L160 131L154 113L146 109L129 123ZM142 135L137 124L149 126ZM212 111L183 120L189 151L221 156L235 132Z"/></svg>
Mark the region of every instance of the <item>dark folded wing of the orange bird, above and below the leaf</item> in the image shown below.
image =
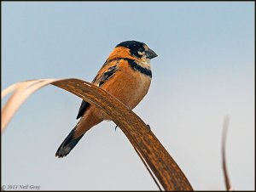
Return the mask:
<svg viewBox="0 0 256 192"><path fill-rule="evenodd" d="M109 67L108 70L106 72L104 72L102 74L102 76L100 76L100 77L99 77L100 74L98 74L92 82L93 83L98 82L98 86L101 87L105 82L108 81L108 79L110 77L112 77L114 75L115 71L117 71L117 65L113 65L113 66ZM77 116L77 119L79 119L81 116L84 115L84 112L89 107L89 105L90 104L88 102L86 102L84 100L82 101L82 104L79 108L79 114Z"/></svg>

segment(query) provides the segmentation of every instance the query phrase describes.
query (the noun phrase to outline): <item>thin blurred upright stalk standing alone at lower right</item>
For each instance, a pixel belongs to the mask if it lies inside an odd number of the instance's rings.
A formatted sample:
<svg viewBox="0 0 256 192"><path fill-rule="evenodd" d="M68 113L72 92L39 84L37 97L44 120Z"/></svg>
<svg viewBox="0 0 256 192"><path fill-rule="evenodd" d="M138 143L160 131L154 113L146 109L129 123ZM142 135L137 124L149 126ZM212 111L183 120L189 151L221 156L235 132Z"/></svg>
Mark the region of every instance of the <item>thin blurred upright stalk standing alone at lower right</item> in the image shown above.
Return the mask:
<svg viewBox="0 0 256 192"><path fill-rule="evenodd" d="M230 178L229 178L229 174L228 174L227 163L226 163L226 150L225 150L229 123L230 123L230 117L225 116L224 124L223 124L221 152L222 152L222 167L223 167L223 171L224 171L225 186L226 186L227 190L232 190L232 187L230 184Z"/></svg>

